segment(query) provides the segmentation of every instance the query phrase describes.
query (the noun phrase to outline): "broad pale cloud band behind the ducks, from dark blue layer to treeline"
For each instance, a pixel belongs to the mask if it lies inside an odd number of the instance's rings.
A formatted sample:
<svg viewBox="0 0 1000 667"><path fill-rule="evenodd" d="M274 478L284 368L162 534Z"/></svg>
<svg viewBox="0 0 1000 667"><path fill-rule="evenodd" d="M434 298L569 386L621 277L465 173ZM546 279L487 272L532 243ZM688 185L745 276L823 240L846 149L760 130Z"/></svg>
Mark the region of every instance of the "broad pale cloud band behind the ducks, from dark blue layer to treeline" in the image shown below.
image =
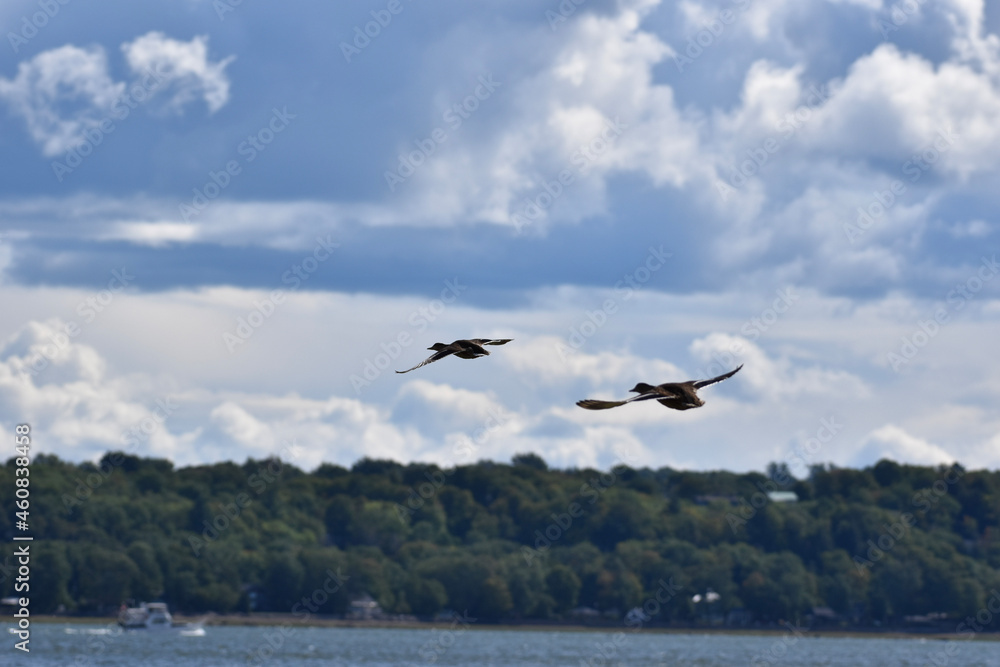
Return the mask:
<svg viewBox="0 0 1000 667"><path fill-rule="evenodd" d="M899 297L851 309L843 300L805 295L750 341L722 333L739 330L734 319L716 333L692 337L687 311L696 303L704 307L704 299L648 295L565 359L556 346L567 341L552 336L548 322L575 321L591 294L564 290L561 305L539 298L548 304L542 319L534 306L495 312L454 305L443 316L447 328L469 330L496 318L518 323L515 340L485 359L444 360L408 376L384 374L357 395L347 378L363 357L380 350L381 334L395 331L412 301L289 294L280 312L230 355L220 333L261 298L257 292L129 294L60 344L65 320L37 320L32 313L65 312L54 304L71 307L81 300L79 292L29 296L0 289L11 315L28 322L3 332L0 422L32 424L40 448L71 460L132 445L137 454L179 465L287 449L304 468L323 461L350 465L364 456L443 465L507 461L528 451L566 467L607 466L624 448L634 465L760 470L789 458L816 437L821 420L832 419L842 428L812 463L947 456L973 467L1000 464L990 444L1000 425L980 407L1000 392L990 370L994 360L956 347L951 338L988 345L997 309L985 301L970 302L975 311L963 317L971 319L943 329L905 377L881 361L926 305ZM740 295L716 300L702 317L724 321L741 301ZM352 320L359 311L365 320ZM667 315L651 317L654 312ZM330 332L342 331L345 321L355 324L331 348ZM648 336L633 337L629 347L616 343L639 325ZM859 330L869 333L857 339ZM594 412L574 405L582 398L626 397L636 382L700 378L734 363L744 363L743 370L703 390L706 405L698 410L631 404ZM941 405L921 390L930 377L938 385L971 384Z"/></svg>

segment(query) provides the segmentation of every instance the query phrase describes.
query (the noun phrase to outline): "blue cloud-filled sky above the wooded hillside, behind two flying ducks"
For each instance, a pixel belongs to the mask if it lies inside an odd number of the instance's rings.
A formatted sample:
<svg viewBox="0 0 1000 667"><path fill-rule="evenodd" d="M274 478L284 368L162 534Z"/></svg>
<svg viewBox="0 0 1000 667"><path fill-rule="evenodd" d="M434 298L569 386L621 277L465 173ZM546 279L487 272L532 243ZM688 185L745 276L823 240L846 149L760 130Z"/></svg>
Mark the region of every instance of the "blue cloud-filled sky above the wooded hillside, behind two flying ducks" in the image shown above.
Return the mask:
<svg viewBox="0 0 1000 667"><path fill-rule="evenodd" d="M36 455L1000 467L996 3L0 26L0 427ZM393 372L475 337L513 341ZM575 406L738 364L697 410Z"/></svg>

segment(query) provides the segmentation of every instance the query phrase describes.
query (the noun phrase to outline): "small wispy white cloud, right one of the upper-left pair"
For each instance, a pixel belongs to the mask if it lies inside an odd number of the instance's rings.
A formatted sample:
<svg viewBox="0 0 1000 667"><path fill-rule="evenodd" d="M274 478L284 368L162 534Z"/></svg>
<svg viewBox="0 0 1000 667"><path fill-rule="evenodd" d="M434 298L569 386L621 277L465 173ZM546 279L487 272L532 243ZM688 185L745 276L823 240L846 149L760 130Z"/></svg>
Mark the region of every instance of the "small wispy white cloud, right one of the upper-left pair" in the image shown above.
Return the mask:
<svg viewBox="0 0 1000 667"><path fill-rule="evenodd" d="M180 112L201 97L209 113L215 113L229 101L229 79L226 66L236 56L217 62L208 58L208 37L200 35L190 42L170 39L162 32L150 32L133 42L122 45L125 60L136 77L155 72L165 77L172 91L167 108ZM154 94L161 94L158 88Z"/></svg>

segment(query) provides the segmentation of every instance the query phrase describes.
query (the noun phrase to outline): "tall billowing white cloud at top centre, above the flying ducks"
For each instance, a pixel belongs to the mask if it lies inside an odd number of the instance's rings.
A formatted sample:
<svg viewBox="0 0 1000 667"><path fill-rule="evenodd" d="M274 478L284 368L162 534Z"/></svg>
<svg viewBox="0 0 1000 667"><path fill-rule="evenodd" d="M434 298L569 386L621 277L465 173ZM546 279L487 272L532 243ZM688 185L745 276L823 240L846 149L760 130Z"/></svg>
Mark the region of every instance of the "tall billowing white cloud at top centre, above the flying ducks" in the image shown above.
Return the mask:
<svg viewBox="0 0 1000 667"><path fill-rule="evenodd" d="M640 29L656 4L581 13L554 34L521 30L526 49L545 59L523 77L501 79L482 107L504 113L476 111L449 135L400 186L393 217L512 226L520 215L538 231L605 212L606 181L616 173L674 186L707 174L697 160L697 121L677 109L669 86L652 83L652 68L673 53Z"/></svg>

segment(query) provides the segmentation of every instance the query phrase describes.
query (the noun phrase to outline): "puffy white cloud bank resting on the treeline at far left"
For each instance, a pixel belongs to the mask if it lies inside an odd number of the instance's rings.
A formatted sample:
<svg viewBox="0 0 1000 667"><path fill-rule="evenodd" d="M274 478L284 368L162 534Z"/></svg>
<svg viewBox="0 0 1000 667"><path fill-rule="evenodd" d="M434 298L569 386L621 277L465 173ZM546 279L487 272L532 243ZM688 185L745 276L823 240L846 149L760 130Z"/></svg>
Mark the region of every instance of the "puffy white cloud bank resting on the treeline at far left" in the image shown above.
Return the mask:
<svg viewBox="0 0 1000 667"><path fill-rule="evenodd" d="M70 460L108 450L179 464L277 453L302 446L296 465L406 460L419 449L386 413L353 399L184 389L146 373L109 375L93 347L57 319L30 321L0 346L0 423L29 423L44 451Z"/></svg>

